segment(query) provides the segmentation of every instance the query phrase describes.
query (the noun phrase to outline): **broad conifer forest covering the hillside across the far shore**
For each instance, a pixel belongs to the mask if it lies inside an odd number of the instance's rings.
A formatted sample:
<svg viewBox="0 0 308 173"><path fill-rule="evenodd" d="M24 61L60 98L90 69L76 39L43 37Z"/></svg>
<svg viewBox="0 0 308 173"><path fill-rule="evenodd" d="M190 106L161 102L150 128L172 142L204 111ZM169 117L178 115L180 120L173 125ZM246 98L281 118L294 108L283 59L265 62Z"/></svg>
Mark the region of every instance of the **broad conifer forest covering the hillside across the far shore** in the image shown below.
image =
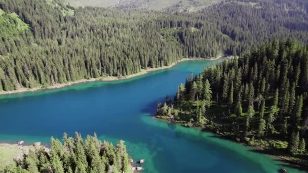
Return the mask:
<svg viewBox="0 0 308 173"><path fill-rule="evenodd" d="M0 92L239 55L272 37L305 44L306 12L288 2L224 1L198 13L170 13L0 0Z"/></svg>

